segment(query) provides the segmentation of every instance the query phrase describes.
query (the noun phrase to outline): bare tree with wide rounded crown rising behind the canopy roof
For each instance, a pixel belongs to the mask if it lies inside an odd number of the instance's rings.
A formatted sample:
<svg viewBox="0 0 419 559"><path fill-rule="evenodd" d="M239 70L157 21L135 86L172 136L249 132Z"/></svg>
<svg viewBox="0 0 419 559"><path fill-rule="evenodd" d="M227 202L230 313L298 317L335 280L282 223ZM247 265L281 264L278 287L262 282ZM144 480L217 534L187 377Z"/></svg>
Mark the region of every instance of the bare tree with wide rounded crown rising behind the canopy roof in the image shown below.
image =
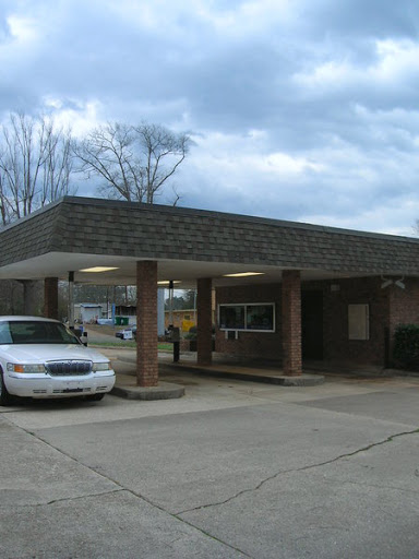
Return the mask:
<svg viewBox="0 0 419 559"><path fill-rule="evenodd" d="M153 204L185 158L189 144L187 134L161 126L116 122L74 142L73 152L85 176L100 179L105 195Z"/></svg>

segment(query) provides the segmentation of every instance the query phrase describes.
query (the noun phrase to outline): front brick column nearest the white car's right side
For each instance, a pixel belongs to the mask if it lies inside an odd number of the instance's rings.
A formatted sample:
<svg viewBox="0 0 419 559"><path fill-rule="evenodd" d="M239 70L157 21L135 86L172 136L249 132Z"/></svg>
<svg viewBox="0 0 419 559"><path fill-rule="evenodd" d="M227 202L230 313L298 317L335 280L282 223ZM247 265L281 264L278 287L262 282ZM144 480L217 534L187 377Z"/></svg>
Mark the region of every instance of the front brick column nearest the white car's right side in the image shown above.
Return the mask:
<svg viewBox="0 0 419 559"><path fill-rule="evenodd" d="M157 262L136 263L136 383L158 384Z"/></svg>

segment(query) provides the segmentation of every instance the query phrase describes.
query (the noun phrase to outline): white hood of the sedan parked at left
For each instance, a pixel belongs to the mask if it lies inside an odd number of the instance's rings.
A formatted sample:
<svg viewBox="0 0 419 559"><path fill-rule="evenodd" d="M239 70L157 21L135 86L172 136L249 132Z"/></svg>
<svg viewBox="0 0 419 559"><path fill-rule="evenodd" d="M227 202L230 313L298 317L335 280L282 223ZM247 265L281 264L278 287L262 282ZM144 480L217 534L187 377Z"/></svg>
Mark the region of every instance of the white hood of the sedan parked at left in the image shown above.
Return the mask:
<svg viewBox="0 0 419 559"><path fill-rule="evenodd" d="M73 344L13 344L0 345L0 356L11 362L45 362L61 359L109 361L105 355L84 345Z"/></svg>

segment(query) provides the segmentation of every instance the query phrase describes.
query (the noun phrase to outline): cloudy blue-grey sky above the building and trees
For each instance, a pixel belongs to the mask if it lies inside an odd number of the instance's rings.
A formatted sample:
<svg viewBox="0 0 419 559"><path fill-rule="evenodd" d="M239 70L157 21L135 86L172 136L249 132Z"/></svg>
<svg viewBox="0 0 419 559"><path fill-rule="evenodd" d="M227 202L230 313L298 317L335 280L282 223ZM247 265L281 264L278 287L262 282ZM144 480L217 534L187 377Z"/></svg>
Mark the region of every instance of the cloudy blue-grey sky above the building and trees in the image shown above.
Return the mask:
<svg viewBox="0 0 419 559"><path fill-rule="evenodd" d="M189 133L178 205L412 236L419 2L1 0L11 111Z"/></svg>

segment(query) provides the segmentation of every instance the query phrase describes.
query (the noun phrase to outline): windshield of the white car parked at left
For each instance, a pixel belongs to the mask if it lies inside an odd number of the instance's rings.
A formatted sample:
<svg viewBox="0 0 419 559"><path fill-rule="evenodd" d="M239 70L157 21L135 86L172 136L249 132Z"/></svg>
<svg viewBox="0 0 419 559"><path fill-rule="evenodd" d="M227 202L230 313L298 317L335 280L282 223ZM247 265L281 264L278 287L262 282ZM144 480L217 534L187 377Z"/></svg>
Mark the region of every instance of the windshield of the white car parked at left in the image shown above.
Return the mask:
<svg viewBox="0 0 419 559"><path fill-rule="evenodd" d="M5 344L80 344L80 342L60 322L10 320L0 322L0 345Z"/></svg>

